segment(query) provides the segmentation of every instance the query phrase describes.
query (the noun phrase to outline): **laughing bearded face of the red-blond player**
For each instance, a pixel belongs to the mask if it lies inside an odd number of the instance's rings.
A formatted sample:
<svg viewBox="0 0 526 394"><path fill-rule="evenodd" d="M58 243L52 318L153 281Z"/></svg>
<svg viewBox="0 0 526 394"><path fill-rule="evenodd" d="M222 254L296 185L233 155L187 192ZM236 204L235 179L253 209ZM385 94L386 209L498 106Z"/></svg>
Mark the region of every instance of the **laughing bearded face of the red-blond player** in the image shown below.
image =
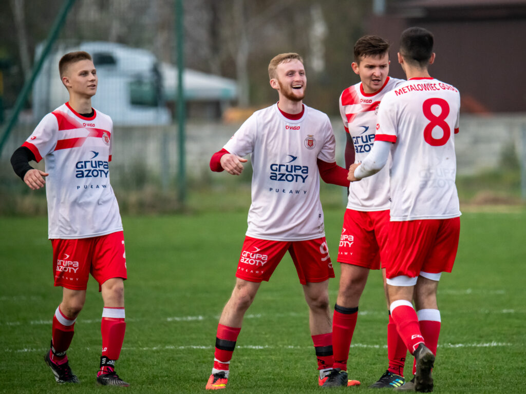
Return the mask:
<svg viewBox="0 0 526 394"><path fill-rule="evenodd" d="M298 59L283 61L276 67L276 76L270 79L270 86L276 89L280 101L301 101L305 97L307 77L303 63Z"/></svg>

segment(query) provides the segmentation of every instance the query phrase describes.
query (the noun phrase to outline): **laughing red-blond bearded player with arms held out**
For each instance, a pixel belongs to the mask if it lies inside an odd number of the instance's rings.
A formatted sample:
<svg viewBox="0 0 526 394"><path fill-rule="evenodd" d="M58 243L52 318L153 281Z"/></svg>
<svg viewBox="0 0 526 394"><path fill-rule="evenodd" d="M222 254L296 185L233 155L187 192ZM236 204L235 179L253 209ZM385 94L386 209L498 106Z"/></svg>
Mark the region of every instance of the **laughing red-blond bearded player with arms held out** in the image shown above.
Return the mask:
<svg viewBox="0 0 526 394"><path fill-rule="evenodd" d="M250 154L253 170L248 229L236 285L219 319L214 367L206 385L210 390L226 387L245 312L287 251L310 310L319 385L332 368L328 279L334 271L325 241L319 178L347 186L347 171L336 165L329 118L303 103L307 77L302 58L295 53L277 55L268 70L279 101L254 112L210 160L211 170L239 175L247 162L243 157Z"/></svg>

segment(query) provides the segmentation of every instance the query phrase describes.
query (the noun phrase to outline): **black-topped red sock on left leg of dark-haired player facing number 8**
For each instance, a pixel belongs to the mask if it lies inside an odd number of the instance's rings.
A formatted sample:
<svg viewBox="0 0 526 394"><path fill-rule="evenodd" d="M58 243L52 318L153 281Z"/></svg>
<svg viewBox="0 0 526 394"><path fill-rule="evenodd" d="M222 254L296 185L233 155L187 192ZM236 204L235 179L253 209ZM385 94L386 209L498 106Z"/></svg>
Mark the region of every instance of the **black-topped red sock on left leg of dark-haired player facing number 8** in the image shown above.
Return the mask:
<svg viewBox="0 0 526 394"><path fill-rule="evenodd" d="M352 334L355 332L358 307L344 308L336 304L332 316L332 350L334 352L333 368L347 370L349 348L351 347Z"/></svg>

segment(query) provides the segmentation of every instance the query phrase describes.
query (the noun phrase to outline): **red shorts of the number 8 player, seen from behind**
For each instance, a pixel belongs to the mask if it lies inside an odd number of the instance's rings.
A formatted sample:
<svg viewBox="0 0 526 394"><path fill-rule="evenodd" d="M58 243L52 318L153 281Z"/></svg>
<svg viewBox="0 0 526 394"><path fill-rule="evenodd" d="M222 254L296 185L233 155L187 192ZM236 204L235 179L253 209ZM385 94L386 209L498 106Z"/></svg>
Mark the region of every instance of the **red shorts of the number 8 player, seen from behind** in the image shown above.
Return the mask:
<svg viewBox="0 0 526 394"><path fill-rule="evenodd" d="M459 235L459 217L389 222L387 277L451 272Z"/></svg>

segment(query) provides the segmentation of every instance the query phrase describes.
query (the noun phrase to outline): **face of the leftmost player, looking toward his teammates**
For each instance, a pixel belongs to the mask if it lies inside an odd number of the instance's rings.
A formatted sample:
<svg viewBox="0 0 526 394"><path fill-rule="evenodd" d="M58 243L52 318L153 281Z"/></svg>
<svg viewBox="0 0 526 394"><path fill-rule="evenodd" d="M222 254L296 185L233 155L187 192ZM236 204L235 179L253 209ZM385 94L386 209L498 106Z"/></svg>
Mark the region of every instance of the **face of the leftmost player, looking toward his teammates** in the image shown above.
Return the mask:
<svg viewBox="0 0 526 394"><path fill-rule="evenodd" d="M92 60L79 60L67 66L62 82L70 95L92 97L97 92L97 70Z"/></svg>

